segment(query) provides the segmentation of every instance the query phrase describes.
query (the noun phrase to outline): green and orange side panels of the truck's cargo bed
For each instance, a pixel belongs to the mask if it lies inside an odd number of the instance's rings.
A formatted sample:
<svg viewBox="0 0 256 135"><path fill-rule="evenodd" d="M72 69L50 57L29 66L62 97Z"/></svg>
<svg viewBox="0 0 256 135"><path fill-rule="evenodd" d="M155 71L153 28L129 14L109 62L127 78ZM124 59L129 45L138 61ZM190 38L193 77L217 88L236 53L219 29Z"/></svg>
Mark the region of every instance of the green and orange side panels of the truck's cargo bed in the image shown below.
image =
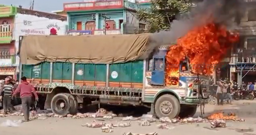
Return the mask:
<svg viewBox="0 0 256 135"><path fill-rule="evenodd" d="M50 82L50 63L23 65L22 76L36 83ZM55 62L52 64L52 82L72 83L72 63ZM106 64L74 64L74 84L80 86L106 86L142 88L143 61L133 61L109 65L107 80ZM108 82L107 82L108 81Z"/></svg>

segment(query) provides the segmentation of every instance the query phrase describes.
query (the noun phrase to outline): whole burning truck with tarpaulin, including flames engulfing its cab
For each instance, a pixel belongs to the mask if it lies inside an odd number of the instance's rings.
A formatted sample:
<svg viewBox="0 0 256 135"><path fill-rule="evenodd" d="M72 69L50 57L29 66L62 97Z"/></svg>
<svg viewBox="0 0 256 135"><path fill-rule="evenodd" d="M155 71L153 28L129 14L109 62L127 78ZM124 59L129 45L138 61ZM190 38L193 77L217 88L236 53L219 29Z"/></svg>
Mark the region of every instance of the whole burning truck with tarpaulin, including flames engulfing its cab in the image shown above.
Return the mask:
<svg viewBox="0 0 256 135"><path fill-rule="evenodd" d="M172 46L159 47L153 36L21 36L19 76L33 80L41 109L58 115L106 103L146 106L157 117L193 116L208 98L213 65L238 34L212 23Z"/></svg>

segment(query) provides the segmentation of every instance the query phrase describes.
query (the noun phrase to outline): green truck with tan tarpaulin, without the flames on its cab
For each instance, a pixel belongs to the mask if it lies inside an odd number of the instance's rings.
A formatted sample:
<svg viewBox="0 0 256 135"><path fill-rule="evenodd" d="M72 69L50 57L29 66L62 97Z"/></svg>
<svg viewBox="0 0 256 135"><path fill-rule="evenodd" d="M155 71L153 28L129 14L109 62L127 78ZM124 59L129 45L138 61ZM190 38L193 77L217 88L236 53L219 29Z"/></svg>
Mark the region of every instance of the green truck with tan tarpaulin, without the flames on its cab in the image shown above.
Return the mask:
<svg viewBox="0 0 256 135"><path fill-rule="evenodd" d="M208 98L209 77L184 71L177 84L167 86L169 46L154 53L149 39L150 34L20 37L20 78L34 78L39 95L46 95L44 109L59 115L108 103L150 107L157 117L193 116Z"/></svg>

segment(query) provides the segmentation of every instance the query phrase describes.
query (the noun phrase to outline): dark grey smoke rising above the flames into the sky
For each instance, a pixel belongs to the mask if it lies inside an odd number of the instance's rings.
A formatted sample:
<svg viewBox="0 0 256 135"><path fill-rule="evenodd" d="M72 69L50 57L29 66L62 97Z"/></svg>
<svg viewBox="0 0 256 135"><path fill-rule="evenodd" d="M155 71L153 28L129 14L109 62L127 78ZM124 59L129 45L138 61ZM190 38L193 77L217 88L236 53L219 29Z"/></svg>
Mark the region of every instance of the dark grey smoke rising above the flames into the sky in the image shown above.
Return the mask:
<svg viewBox="0 0 256 135"><path fill-rule="evenodd" d="M178 18L171 24L169 31L161 31L152 35L152 39L161 46L176 43L189 30L206 23L221 23L227 27L240 23L245 13L243 0L204 0L193 7L188 16ZM181 15L182 16L182 15Z"/></svg>

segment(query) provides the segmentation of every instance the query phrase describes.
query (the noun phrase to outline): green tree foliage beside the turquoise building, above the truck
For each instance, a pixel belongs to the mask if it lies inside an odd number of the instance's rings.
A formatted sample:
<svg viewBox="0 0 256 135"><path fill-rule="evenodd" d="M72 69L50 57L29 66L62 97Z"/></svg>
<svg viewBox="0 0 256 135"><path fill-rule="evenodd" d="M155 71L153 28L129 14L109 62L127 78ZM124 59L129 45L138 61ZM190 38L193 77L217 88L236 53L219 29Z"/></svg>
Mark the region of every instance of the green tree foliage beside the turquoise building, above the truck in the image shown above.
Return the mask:
<svg viewBox="0 0 256 135"><path fill-rule="evenodd" d="M189 0L151 0L151 3L150 8L137 11L138 19L146 23L149 33L169 29L175 16L187 12L192 5Z"/></svg>

